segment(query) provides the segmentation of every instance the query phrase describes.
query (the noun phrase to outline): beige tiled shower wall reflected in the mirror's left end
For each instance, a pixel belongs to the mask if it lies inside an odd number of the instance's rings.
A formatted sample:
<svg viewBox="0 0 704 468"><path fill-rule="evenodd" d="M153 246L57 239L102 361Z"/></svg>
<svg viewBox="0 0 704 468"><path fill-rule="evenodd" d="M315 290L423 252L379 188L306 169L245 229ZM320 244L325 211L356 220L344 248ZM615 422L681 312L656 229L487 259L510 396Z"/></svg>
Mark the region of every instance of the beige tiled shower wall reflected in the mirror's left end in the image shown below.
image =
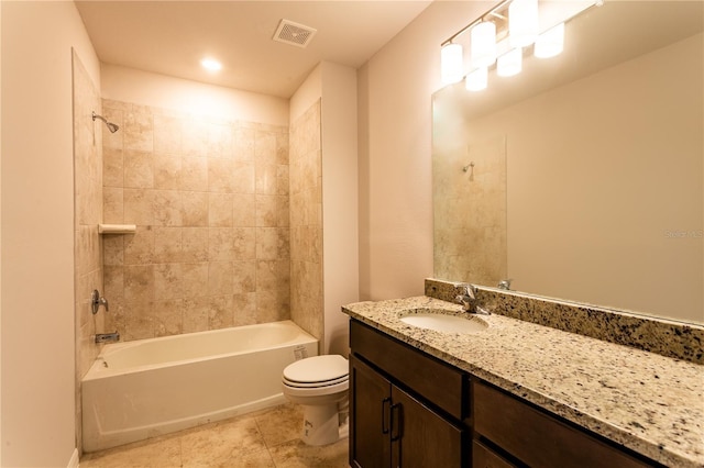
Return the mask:
<svg viewBox="0 0 704 468"><path fill-rule="evenodd" d="M451 120L443 109L435 115ZM432 146L435 276L496 286L507 274L506 137L470 141L447 123Z"/></svg>

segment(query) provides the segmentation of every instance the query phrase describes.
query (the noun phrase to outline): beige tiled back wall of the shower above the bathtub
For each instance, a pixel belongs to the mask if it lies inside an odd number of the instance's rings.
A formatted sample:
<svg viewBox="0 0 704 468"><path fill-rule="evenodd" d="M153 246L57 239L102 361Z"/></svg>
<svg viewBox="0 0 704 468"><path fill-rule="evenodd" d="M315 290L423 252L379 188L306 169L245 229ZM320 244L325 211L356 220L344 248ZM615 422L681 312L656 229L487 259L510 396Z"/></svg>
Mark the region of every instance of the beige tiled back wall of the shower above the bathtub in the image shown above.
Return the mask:
<svg viewBox="0 0 704 468"><path fill-rule="evenodd" d="M106 331L123 341L290 317L288 127L102 101Z"/></svg>

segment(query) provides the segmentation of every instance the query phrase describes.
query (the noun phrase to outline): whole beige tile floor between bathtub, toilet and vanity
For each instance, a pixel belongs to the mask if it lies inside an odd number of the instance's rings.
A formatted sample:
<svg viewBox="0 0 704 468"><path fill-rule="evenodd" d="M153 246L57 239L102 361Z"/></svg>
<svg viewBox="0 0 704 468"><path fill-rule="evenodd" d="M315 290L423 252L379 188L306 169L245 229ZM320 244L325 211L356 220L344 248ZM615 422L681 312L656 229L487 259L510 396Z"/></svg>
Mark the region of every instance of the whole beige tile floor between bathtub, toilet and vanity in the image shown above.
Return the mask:
<svg viewBox="0 0 704 468"><path fill-rule="evenodd" d="M348 439L310 447L299 439L302 413L283 404L190 430L85 454L80 468L346 468Z"/></svg>

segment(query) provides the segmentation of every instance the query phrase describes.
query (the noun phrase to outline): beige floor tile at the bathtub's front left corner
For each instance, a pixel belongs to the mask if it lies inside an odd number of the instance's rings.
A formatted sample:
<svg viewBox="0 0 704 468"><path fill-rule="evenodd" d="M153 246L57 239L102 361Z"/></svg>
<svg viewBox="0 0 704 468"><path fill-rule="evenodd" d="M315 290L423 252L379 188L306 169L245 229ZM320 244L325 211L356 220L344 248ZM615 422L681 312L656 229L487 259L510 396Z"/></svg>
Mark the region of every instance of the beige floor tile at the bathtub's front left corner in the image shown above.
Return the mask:
<svg viewBox="0 0 704 468"><path fill-rule="evenodd" d="M180 467L178 437L135 442L108 450L85 454L80 468L172 468Z"/></svg>

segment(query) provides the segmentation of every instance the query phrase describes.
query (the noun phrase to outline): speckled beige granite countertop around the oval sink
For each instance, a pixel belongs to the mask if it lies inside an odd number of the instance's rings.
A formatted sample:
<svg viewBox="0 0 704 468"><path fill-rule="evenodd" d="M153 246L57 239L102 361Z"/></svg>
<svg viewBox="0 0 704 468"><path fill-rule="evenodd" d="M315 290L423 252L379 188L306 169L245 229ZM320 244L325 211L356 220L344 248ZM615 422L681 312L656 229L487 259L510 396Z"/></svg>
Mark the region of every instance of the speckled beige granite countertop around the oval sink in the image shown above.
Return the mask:
<svg viewBox="0 0 704 468"><path fill-rule="evenodd" d="M479 315L488 328L473 334L399 320L422 308L464 313L425 296L342 310L648 458L704 467L704 366L499 314Z"/></svg>

